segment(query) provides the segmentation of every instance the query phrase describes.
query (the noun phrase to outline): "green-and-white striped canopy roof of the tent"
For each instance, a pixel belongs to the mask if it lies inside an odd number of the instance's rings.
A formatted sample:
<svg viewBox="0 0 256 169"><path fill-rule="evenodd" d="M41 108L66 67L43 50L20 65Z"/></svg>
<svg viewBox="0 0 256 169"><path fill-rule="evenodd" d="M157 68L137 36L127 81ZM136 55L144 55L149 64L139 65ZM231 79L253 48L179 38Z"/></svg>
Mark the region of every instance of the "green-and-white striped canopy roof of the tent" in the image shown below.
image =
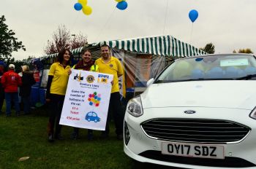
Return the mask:
<svg viewBox="0 0 256 169"><path fill-rule="evenodd" d="M108 44L111 48L116 47L119 50L126 50L129 52L146 53L160 56L176 56L189 57L195 55L206 55L203 50L197 47L181 42L173 36L151 36L135 39L122 39L113 41L102 41L98 43L89 44L89 47L99 47L102 44ZM73 55L79 55L83 47L71 50ZM58 53L43 56L41 59L56 58Z"/></svg>

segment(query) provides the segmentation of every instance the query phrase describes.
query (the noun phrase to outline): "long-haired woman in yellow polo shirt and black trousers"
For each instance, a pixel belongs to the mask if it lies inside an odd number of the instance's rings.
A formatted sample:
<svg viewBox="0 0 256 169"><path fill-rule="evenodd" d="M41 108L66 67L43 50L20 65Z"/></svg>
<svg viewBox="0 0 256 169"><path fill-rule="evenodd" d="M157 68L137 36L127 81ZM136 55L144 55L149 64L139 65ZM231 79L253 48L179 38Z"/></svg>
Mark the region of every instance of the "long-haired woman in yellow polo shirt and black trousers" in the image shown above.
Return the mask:
<svg viewBox="0 0 256 169"><path fill-rule="evenodd" d="M56 63L50 66L46 91L46 101L50 103L50 118L48 122L48 141L50 142L53 142L54 139L64 140L61 137L61 125L59 125L59 121L69 74L71 74L71 68L69 66L71 64L71 58L72 53L69 50L61 50L57 56Z"/></svg>

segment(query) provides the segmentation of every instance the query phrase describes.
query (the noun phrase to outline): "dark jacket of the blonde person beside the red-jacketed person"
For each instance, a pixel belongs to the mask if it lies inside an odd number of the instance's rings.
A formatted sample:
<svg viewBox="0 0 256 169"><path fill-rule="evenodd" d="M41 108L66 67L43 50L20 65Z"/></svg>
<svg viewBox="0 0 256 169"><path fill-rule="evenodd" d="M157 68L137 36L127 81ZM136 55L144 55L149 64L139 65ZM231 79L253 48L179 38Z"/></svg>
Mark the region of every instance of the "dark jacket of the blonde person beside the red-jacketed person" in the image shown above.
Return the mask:
<svg viewBox="0 0 256 169"><path fill-rule="evenodd" d="M24 71L21 77L22 85L20 87L20 96L28 97L31 93L31 86L36 83L31 72Z"/></svg>

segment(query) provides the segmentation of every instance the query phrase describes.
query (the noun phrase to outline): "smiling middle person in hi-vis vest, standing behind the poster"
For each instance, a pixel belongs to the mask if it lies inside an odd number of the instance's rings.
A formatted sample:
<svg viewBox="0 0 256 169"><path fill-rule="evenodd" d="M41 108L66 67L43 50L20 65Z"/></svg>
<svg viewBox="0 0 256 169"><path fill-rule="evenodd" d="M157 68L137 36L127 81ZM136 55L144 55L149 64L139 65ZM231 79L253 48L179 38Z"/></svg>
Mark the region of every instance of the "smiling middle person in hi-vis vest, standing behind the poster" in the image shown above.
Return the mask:
<svg viewBox="0 0 256 169"><path fill-rule="evenodd" d="M81 52L82 60L80 60L75 66L74 69L79 69L83 71L98 71L98 66L94 65L94 60L91 60L91 51L88 49L83 49ZM74 132L71 135L72 139L78 139L79 128L74 127ZM93 130L88 130L87 138L88 140L92 140L94 137Z"/></svg>

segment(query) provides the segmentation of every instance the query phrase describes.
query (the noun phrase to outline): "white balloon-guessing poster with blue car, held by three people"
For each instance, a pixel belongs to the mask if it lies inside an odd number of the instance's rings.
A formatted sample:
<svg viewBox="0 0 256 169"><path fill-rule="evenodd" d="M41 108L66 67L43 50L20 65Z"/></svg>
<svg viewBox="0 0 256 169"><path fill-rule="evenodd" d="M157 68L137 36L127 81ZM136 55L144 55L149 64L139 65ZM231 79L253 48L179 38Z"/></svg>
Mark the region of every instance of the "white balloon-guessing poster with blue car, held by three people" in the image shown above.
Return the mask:
<svg viewBox="0 0 256 169"><path fill-rule="evenodd" d="M61 125L105 130L113 75L72 70L69 75Z"/></svg>

